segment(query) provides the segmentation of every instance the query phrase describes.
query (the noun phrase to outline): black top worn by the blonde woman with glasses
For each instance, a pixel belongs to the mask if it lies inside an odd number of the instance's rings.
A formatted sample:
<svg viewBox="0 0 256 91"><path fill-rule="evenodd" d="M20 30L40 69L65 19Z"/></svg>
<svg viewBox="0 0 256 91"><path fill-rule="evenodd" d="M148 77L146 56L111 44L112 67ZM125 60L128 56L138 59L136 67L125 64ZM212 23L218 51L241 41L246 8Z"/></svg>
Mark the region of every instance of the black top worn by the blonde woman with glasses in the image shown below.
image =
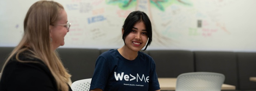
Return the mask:
<svg viewBox="0 0 256 91"><path fill-rule="evenodd" d="M3 70L0 91L58 91L49 68L41 60L28 55L28 51L23 52L19 59L38 63L18 62L14 55ZM72 91L70 87L69 91Z"/></svg>

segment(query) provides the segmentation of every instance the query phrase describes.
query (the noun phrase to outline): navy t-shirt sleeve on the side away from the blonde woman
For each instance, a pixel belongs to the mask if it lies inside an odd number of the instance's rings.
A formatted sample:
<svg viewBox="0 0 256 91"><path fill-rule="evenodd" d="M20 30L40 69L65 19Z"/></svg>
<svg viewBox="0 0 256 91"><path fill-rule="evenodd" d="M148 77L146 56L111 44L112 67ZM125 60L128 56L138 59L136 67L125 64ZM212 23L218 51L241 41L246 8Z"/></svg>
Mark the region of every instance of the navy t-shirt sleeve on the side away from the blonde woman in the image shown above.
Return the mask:
<svg viewBox="0 0 256 91"><path fill-rule="evenodd" d="M155 62L152 58L151 58L151 70L150 70L150 76L149 77L151 77L151 81L149 82L149 89L148 90L149 91L160 90L160 85L159 85L159 82L158 82L157 73L155 71Z"/></svg>

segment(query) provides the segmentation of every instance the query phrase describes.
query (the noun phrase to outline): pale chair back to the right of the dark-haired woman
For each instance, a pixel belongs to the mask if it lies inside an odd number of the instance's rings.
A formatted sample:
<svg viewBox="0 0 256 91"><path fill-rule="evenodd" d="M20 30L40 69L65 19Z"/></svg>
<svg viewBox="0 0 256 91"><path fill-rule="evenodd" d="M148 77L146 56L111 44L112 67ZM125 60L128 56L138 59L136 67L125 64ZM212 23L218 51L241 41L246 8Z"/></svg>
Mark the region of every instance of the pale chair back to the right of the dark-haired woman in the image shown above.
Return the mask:
<svg viewBox="0 0 256 91"><path fill-rule="evenodd" d="M178 75L175 91L221 91L225 76L214 72L189 72Z"/></svg>

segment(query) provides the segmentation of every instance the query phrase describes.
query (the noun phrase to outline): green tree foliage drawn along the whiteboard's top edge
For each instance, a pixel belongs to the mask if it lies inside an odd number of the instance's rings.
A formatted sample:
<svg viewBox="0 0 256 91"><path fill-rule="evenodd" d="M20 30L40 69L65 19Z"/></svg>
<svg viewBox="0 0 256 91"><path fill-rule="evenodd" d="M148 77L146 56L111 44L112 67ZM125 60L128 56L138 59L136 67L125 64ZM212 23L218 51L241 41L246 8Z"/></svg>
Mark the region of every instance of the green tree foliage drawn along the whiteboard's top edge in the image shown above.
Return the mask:
<svg viewBox="0 0 256 91"><path fill-rule="evenodd" d="M193 4L189 0L149 0L151 7L156 7L161 11L165 11L165 8L172 4L181 4L184 6L192 6ZM137 6L137 0L106 0L107 4L118 5L120 9L126 10L131 7Z"/></svg>

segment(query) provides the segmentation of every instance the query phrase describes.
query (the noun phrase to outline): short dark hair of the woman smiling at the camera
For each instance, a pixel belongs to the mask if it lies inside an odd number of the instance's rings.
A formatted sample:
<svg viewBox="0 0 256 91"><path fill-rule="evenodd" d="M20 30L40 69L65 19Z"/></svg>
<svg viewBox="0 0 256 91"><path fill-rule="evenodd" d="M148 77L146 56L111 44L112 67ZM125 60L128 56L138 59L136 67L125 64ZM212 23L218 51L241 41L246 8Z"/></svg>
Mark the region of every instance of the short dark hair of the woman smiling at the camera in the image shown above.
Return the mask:
<svg viewBox="0 0 256 91"><path fill-rule="evenodd" d="M134 11L131 12L127 18L125 19L125 22L123 22L123 26L122 29L123 31L123 41L125 42L125 37L130 34L131 30L133 29L133 26L135 25L135 23L138 22L144 22L145 26L146 26L146 31L147 31L147 36L148 36L148 43L146 44L146 47L143 51L145 51L148 47L148 45L151 44L152 42L152 25L151 22L148 18L148 15L146 15L146 13L142 12L142 11Z"/></svg>

